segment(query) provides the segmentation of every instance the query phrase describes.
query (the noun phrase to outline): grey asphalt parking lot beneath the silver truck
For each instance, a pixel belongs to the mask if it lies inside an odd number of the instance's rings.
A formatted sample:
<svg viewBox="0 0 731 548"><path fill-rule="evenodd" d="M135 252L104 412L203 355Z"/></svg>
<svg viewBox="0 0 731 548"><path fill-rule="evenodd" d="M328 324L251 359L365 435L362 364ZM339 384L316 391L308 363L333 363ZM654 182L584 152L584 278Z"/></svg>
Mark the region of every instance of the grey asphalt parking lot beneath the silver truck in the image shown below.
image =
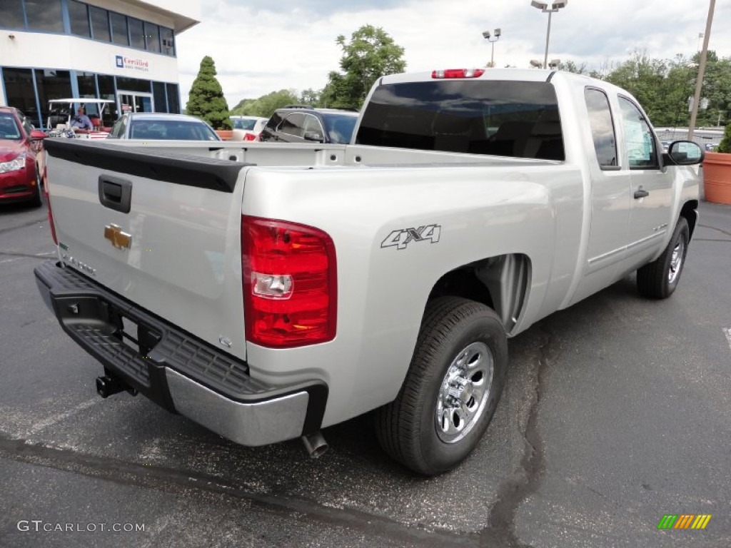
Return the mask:
<svg viewBox="0 0 731 548"><path fill-rule="evenodd" d="M700 213L673 297L626 278L511 340L477 451L421 479L367 417L311 460L102 400L35 286L45 208L0 205L0 546L731 546L731 206ZM712 517L658 530L664 514Z"/></svg>

